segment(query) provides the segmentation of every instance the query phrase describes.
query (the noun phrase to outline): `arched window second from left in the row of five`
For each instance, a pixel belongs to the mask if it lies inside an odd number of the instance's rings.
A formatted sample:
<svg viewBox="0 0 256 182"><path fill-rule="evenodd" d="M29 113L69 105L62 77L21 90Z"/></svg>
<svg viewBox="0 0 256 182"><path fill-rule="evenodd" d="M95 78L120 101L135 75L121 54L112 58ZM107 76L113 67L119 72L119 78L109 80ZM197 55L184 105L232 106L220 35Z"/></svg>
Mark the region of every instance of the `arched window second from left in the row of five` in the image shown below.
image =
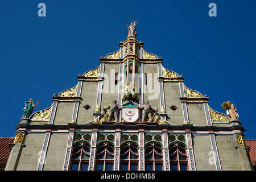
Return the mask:
<svg viewBox="0 0 256 182"><path fill-rule="evenodd" d="M108 142L99 144L96 150L95 170L113 171L114 153L113 144Z"/></svg>

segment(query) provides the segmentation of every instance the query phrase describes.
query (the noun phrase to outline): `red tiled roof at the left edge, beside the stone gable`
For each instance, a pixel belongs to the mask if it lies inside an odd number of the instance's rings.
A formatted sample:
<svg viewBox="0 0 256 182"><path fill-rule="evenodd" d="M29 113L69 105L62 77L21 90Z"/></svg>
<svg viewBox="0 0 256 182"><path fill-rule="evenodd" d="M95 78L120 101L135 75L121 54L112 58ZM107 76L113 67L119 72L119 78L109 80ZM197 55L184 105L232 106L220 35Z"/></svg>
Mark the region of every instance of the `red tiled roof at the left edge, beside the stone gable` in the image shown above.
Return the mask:
<svg viewBox="0 0 256 182"><path fill-rule="evenodd" d="M6 164L10 155L9 143L14 142L14 137L0 137L0 164Z"/></svg>

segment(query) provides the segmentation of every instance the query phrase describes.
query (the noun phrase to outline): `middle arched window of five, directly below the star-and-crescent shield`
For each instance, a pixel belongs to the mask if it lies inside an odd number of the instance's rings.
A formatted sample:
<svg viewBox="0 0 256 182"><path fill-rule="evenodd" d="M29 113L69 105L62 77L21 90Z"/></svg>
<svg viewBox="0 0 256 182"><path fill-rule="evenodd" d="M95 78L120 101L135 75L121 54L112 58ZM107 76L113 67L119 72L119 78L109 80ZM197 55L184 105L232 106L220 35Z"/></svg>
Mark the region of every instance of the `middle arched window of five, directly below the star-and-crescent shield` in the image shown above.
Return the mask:
<svg viewBox="0 0 256 182"><path fill-rule="evenodd" d="M121 146L121 171L137 171L139 162L139 147L134 143L125 143Z"/></svg>

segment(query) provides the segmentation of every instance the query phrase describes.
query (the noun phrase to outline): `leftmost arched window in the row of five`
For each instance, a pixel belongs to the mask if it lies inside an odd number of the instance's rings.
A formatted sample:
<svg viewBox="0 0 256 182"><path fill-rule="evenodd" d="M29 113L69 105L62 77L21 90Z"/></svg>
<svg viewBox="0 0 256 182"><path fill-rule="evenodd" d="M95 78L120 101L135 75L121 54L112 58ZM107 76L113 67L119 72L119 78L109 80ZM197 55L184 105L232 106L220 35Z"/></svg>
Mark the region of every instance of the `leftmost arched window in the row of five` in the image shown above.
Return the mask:
<svg viewBox="0 0 256 182"><path fill-rule="evenodd" d="M79 142L73 146L71 170L88 171L90 158L90 145L86 142Z"/></svg>

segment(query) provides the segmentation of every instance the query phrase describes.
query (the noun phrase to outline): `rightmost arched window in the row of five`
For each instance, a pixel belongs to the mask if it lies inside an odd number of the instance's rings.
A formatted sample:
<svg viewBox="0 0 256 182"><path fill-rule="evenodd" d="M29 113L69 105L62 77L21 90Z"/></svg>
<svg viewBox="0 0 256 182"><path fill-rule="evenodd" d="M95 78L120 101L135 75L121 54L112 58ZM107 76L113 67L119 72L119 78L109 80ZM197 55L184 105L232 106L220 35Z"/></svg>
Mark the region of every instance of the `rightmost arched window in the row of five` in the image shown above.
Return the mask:
<svg viewBox="0 0 256 182"><path fill-rule="evenodd" d="M169 147L171 171L187 171L188 155L184 144L174 143Z"/></svg>

